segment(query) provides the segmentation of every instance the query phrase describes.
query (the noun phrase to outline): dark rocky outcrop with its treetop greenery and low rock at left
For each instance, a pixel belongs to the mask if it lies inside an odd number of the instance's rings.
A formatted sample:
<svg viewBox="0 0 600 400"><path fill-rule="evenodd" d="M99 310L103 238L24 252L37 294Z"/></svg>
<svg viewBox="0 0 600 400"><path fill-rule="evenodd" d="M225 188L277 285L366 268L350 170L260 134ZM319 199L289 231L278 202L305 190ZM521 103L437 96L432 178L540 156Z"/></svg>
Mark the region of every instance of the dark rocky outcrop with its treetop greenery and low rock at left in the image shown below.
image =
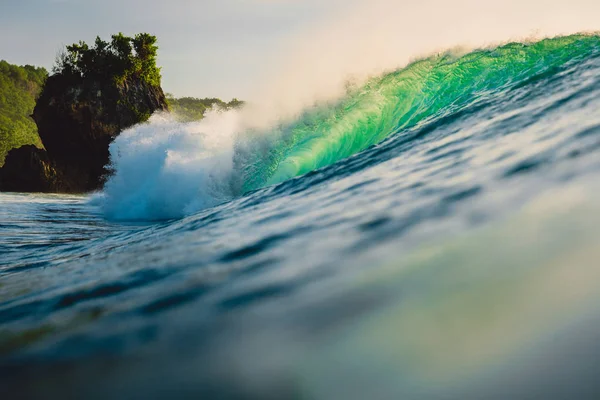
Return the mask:
<svg viewBox="0 0 600 400"><path fill-rule="evenodd" d="M119 34L112 43L98 38L95 48L83 42L68 46L32 115L45 150L11 150L0 169L0 191L100 189L115 137L169 109L155 64L155 41L147 34Z"/></svg>

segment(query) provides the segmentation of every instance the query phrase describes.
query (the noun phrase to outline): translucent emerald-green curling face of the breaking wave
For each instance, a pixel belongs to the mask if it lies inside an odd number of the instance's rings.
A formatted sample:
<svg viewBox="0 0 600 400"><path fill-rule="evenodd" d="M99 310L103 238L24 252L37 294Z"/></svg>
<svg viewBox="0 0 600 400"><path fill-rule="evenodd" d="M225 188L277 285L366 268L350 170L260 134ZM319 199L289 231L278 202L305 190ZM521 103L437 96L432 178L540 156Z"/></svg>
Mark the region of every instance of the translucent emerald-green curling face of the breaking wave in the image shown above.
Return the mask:
<svg viewBox="0 0 600 400"><path fill-rule="evenodd" d="M333 164L393 133L452 114L598 52L600 36L573 35L511 43L458 58L438 55L373 78L337 104L315 107L279 127L268 135L270 143L252 144L251 158L241 161L243 191Z"/></svg>

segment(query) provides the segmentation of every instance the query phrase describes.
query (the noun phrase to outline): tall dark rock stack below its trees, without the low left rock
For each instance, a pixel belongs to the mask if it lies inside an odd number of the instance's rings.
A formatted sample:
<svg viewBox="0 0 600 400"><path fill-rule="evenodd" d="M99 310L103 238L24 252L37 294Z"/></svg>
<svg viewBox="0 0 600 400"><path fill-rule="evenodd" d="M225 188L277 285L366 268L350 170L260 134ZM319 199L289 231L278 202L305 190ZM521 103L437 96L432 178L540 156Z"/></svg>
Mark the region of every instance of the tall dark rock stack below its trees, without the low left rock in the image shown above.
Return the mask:
<svg viewBox="0 0 600 400"><path fill-rule="evenodd" d="M101 187L114 138L157 110L167 110L160 87L139 80L72 85L59 75L48 79L33 119L50 158L85 192Z"/></svg>

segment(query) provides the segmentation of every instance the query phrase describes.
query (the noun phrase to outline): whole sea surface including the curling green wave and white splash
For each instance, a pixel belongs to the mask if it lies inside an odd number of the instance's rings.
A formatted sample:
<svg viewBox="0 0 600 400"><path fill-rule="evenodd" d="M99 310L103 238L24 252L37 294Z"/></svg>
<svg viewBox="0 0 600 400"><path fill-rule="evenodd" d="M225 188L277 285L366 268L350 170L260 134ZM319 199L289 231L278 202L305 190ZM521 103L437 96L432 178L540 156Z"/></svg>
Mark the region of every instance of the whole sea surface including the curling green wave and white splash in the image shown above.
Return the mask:
<svg viewBox="0 0 600 400"><path fill-rule="evenodd" d="M217 163L174 129L101 196L0 195L4 393L600 394L600 37L424 59Z"/></svg>

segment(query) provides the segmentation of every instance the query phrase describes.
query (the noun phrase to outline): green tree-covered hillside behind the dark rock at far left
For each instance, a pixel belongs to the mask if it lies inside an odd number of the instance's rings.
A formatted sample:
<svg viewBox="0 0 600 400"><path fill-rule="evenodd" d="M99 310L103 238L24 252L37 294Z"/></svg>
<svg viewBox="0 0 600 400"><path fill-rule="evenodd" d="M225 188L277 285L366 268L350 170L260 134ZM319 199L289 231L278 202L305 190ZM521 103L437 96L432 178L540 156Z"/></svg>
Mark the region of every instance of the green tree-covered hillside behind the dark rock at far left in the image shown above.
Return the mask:
<svg viewBox="0 0 600 400"><path fill-rule="evenodd" d="M44 68L0 61L0 166L13 148L26 144L42 147L30 115L47 76Z"/></svg>

